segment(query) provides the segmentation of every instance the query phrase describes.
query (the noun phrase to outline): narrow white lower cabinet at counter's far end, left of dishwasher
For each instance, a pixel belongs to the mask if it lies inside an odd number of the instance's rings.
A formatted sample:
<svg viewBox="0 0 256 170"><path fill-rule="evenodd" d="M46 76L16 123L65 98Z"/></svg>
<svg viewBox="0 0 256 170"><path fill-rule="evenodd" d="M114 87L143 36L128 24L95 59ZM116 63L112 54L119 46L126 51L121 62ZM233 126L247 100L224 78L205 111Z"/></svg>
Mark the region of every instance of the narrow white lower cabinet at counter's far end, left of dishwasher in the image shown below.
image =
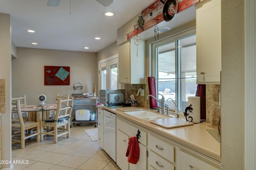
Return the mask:
<svg viewBox="0 0 256 170"><path fill-rule="evenodd" d="M97 107L98 114L98 144L102 149L104 149L104 131L103 131L103 109L102 107Z"/></svg>

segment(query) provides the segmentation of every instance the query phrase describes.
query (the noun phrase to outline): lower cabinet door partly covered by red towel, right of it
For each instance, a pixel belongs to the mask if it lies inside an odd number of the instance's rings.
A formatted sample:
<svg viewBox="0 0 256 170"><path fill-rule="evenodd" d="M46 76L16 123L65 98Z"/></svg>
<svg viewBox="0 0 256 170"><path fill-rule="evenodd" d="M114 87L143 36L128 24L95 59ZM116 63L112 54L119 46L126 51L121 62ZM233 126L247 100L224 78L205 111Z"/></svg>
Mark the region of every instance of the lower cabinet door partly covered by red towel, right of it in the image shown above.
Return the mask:
<svg viewBox="0 0 256 170"><path fill-rule="evenodd" d="M146 170L147 169L147 157L146 157L146 147L139 143L140 147L140 157L137 164L129 163L129 170ZM122 169L122 168L121 168Z"/></svg>

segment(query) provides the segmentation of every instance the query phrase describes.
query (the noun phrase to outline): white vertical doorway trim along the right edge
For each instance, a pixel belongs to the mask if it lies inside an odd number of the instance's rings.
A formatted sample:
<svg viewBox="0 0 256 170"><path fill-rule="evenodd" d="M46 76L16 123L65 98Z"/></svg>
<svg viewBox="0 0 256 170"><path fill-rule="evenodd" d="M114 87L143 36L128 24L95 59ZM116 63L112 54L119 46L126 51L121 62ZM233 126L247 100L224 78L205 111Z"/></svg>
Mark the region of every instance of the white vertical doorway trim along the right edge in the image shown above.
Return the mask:
<svg viewBox="0 0 256 170"><path fill-rule="evenodd" d="M256 169L256 3L245 0L245 170Z"/></svg>

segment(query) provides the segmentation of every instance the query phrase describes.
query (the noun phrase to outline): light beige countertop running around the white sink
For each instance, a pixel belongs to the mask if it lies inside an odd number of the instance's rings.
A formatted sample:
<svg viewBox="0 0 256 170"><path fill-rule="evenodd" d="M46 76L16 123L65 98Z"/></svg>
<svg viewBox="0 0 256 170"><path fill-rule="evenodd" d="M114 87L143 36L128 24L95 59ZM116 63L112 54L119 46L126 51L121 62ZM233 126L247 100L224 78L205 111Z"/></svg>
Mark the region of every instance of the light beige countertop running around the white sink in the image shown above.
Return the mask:
<svg viewBox="0 0 256 170"><path fill-rule="evenodd" d="M214 137L206 129L218 129L218 126L212 125L206 122L196 123L194 125L185 126L185 127L176 127L171 129L166 129L150 123L149 121L144 121L137 117L133 117L119 111L115 108L109 108L108 106L103 106L103 109L112 111L116 113L117 116L127 119L137 125L140 125L150 131L154 131L159 135L162 135L172 141L185 145L193 150L206 154L216 160L221 160L220 157L220 143L214 139ZM140 107L143 110L150 110L145 107ZM183 116L180 116L183 117ZM185 119L185 117L183 117Z"/></svg>

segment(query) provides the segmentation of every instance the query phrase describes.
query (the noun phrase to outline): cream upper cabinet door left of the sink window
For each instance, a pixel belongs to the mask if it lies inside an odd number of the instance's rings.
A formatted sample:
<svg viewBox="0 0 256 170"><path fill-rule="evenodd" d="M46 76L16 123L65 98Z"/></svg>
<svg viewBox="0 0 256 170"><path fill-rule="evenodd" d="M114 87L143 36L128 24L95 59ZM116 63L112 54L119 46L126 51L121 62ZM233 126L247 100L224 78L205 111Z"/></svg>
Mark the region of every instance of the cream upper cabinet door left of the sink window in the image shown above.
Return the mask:
<svg viewBox="0 0 256 170"><path fill-rule="evenodd" d="M130 83L130 42L118 47L118 80L119 83Z"/></svg>

